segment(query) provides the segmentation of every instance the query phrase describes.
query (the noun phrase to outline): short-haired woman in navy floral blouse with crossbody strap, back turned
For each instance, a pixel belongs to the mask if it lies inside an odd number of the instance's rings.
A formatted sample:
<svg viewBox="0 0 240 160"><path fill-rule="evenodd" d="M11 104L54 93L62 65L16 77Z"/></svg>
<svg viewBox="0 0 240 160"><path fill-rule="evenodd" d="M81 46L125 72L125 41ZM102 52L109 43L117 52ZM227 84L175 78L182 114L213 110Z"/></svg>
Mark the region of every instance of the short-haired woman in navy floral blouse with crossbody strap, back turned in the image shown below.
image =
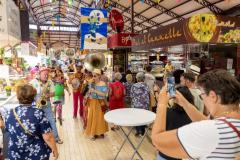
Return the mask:
<svg viewBox="0 0 240 160"><path fill-rule="evenodd" d="M58 150L45 113L32 103L36 90L28 84L17 88L19 106L3 114L9 132L8 159L48 160L50 152L55 158Z"/></svg>

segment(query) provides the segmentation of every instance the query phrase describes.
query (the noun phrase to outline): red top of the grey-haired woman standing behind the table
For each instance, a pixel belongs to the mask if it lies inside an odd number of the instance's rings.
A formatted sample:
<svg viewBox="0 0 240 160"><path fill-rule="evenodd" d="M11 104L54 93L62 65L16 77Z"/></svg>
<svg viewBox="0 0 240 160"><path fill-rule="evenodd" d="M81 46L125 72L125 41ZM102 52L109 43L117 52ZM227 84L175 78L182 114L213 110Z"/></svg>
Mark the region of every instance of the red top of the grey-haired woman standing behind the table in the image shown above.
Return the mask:
<svg viewBox="0 0 240 160"><path fill-rule="evenodd" d="M116 100L114 97L114 87L120 87L122 89L123 96L119 99ZM112 90L112 95L109 98L109 109L114 110L114 109L119 109L124 107L124 91L125 87L121 82L113 82L109 84L109 88Z"/></svg>

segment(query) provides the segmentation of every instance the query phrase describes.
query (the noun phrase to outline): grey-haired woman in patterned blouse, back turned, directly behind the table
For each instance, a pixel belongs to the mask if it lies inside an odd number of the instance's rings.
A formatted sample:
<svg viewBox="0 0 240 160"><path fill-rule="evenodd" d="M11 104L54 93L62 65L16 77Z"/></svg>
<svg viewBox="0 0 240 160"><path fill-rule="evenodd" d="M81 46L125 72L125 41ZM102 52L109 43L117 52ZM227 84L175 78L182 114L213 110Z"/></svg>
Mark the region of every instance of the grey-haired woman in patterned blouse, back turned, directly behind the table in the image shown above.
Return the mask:
<svg viewBox="0 0 240 160"><path fill-rule="evenodd" d="M149 109L149 94L150 90L144 82L145 76L143 72L136 75L137 83L133 84L131 88L132 106L134 108ZM135 136L144 135L145 126L137 126Z"/></svg>

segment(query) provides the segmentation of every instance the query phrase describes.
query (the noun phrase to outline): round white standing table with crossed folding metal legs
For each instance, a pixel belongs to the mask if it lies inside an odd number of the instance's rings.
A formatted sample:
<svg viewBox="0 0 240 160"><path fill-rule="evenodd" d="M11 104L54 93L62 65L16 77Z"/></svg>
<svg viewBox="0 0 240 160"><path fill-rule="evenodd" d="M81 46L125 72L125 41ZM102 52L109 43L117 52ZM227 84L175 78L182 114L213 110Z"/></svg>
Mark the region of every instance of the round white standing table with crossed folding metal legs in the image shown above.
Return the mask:
<svg viewBox="0 0 240 160"><path fill-rule="evenodd" d="M104 115L104 119L108 123L113 123L114 125L119 126L120 129L122 130L122 132L125 135L125 139L124 139L124 141L123 141L123 143L122 143L118 153L116 154L114 160L117 159L117 157L118 157L120 151L122 150L124 144L126 143L126 141L128 141L130 143L130 145L132 146L132 148L134 149L134 153L132 155L131 160L134 158L134 156L136 154L139 156L140 159L143 160L142 156L138 152L138 149L140 148L144 138L147 135L147 132L149 130L149 125L151 123L153 123L155 118L156 118L156 114L155 113L150 112L148 110L137 109L137 108L115 109L115 110L107 112ZM130 136L130 134L133 131L133 128L135 126L143 126L143 125L146 125L147 129L146 129L144 135L142 136L139 144L137 146L134 146L134 144L130 140L129 136ZM131 129L130 129L130 131L128 133L126 133L124 131L123 127L131 127Z"/></svg>

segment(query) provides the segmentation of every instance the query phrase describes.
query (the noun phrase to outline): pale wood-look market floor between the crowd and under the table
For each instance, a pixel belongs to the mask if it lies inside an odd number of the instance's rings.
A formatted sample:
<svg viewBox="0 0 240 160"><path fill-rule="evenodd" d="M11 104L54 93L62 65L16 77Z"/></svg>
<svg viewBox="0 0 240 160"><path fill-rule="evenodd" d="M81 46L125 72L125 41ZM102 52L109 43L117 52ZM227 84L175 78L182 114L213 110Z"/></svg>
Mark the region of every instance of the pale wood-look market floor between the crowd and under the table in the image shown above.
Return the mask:
<svg viewBox="0 0 240 160"><path fill-rule="evenodd" d="M59 148L59 160L113 160L118 148L123 141L121 131L109 131L104 139L90 140L84 135L82 121L72 118L72 98L66 96L66 105L63 107L63 125L59 126L59 135L64 141ZM134 143L140 141L140 138L131 136ZM117 160L129 160L133 149L127 143L121 151ZM146 138L140 148L140 154L144 160L154 160L156 150L151 144L150 138ZM134 160L139 159L135 156Z"/></svg>

